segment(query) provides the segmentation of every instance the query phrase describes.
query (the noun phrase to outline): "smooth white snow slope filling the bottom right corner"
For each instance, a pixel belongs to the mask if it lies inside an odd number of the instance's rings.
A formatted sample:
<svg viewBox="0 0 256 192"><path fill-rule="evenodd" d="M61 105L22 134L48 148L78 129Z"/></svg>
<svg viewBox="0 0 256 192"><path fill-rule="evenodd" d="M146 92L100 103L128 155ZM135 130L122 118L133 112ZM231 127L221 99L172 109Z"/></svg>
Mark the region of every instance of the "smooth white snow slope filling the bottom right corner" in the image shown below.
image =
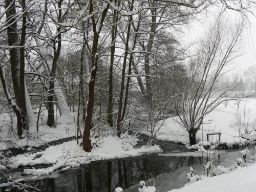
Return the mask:
<svg viewBox="0 0 256 192"><path fill-rule="evenodd" d="M248 167L238 167L230 173L216 177L204 177L203 180L168 192L254 192L256 188L255 175L256 163L253 163Z"/></svg>

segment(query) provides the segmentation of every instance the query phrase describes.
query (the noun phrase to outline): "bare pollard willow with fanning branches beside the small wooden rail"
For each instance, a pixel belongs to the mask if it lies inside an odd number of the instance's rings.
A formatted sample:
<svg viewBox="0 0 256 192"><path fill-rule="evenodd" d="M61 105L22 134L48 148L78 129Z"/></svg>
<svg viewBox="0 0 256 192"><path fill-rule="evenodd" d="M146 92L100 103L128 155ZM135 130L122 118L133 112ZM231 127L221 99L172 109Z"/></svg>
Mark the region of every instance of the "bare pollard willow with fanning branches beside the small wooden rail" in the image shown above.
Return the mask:
<svg viewBox="0 0 256 192"><path fill-rule="evenodd" d="M189 81L182 87L182 94L174 92L175 110L180 119L177 121L189 134L190 144L196 144L196 133L205 115L216 109L222 102L233 99L230 95L237 82L226 83L223 88L215 89L217 80L225 67L238 56L238 41L243 24L232 30L218 17L209 29L206 39L201 41L196 58L188 63Z"/></svg>

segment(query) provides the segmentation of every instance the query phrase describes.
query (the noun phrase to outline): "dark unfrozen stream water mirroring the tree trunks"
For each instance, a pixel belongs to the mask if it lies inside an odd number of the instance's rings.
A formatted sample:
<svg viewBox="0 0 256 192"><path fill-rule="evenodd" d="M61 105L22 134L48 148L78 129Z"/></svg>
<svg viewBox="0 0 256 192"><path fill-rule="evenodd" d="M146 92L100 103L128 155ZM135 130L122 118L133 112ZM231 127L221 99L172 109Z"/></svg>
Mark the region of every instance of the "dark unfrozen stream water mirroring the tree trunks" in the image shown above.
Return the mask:
<svg viewBox="0 0 256 192"><path fill-rule="evenodd" d="M125 189L138 184L140 180L146 181L195 163L201 163L201 158L146 155L109 162L94 162L60 172L57 178L34 180L26 184L45 192L111 192L118 186ZM5 189L2 188L2 191Z"/></svg>

